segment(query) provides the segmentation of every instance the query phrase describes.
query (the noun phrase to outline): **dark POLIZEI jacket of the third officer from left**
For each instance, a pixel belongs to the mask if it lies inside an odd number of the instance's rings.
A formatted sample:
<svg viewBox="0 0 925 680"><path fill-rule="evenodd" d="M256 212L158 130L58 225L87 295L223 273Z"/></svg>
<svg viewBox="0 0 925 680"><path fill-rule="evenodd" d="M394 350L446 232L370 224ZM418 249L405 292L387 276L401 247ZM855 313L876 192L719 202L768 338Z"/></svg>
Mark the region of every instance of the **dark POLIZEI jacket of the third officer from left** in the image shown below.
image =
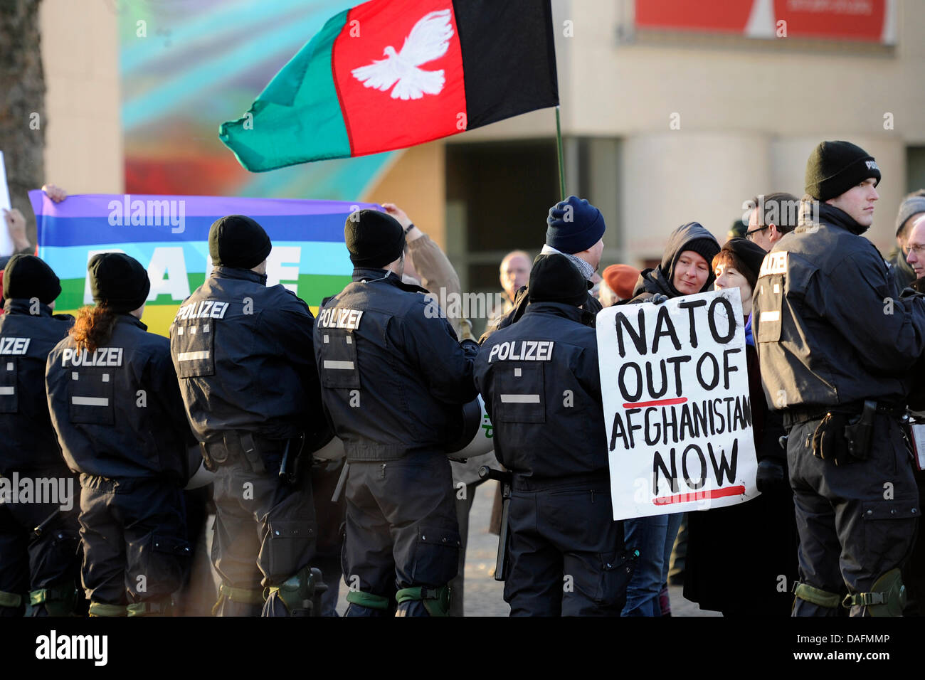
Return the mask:
<svg viewBox="0 0 925 680"><path fill-rule="evenodd" d="M180 391L200 441L227 430L266 439L305 433L310 442L327 432L314 316L293 292L265 283L250 269L216 266L170 327Z"/></svg>

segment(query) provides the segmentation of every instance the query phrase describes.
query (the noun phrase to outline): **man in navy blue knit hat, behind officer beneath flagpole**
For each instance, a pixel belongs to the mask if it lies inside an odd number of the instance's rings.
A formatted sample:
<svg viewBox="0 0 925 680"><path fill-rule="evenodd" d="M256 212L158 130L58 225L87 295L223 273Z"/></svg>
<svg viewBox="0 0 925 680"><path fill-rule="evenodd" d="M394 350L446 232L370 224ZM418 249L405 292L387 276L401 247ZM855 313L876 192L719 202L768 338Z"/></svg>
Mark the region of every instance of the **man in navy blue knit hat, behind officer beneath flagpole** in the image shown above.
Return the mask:
<svg viewBox="0 0 925 680"><path fill-rule="evenodd" d="M592 288L591 279L594 278L595 272L600 266L600 255L604 252L604 231L607 225L604 224L604 216L600 214L598 208L589 204L586 199L577 196L569 196L565 201L553 205L549 208L549 216L546 218L546 244L540 254L548 255L551 253L560 253L565 255L569 261L581 272L581 275L588 281L587 288ZM599 280L599 279L598 279ZM479 339L479 342L485 342L488 336L500 328L506 328L516 322L524 315L527 305L530 303L529 286L525 286L514 298L513 309L497 319L493 319L488 324L485 333ZM587 293L585 303L582 304L584 311L583 322L587 326L594 327L594 316L602 309L598 300Z"/></svg>

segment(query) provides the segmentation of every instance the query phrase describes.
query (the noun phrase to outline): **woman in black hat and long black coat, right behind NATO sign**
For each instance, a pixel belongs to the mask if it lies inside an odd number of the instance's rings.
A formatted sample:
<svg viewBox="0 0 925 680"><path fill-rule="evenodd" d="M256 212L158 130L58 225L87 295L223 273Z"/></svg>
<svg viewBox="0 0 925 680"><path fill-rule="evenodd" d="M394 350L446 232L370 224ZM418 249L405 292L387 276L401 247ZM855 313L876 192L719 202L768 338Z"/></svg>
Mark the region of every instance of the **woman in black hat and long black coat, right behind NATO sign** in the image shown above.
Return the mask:
<svg viewBox="0 0 925 680"><path fill-rule="evenodd" d="M746 362L752 432L758 453L761 495L746 503L687 516L685 598L702 610L735 615L787 616L796 579L796 519L787 482L787 459L778 443L779 416L761 388L751 332L752 291L765 251L746 239L730 239L713 258L714 287L738 288L746 319Z"/></svg>

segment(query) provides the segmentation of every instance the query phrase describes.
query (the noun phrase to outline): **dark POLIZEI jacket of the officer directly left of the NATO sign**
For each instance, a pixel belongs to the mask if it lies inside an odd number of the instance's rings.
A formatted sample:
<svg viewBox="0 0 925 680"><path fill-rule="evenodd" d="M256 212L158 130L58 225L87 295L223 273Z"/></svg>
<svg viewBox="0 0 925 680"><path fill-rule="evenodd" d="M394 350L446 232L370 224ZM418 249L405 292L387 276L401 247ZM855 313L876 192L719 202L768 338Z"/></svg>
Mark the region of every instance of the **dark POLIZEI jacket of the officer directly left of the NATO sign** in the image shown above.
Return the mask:
<svg viewBox="0 0 925 680"><path fill-rule="evenodd" d="M475 359L495 454L531 481L608 469L596 331L581 319L570 304L531 303Z"/></svg>

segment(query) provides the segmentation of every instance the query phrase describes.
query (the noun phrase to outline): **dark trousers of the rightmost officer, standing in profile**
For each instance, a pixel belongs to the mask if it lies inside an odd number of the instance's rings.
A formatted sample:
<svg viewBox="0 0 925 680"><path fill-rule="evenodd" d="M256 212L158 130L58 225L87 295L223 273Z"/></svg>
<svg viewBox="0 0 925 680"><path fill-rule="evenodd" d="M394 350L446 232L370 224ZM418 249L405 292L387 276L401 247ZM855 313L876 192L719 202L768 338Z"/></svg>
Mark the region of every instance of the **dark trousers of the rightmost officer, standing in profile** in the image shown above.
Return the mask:
<svg viewBox="0 0 925 680"><path fill-rule="evenodd" d="M791 427L787 439L790 484L800 536L800 581L830 593L869 592L886 572L901 567L912 548L919 492L899 424L874 419L870 456L835 465L812 453L819 420ZM840 616L796 598L794 616ZM865 615L854 606L852 616Z"/></svg>

